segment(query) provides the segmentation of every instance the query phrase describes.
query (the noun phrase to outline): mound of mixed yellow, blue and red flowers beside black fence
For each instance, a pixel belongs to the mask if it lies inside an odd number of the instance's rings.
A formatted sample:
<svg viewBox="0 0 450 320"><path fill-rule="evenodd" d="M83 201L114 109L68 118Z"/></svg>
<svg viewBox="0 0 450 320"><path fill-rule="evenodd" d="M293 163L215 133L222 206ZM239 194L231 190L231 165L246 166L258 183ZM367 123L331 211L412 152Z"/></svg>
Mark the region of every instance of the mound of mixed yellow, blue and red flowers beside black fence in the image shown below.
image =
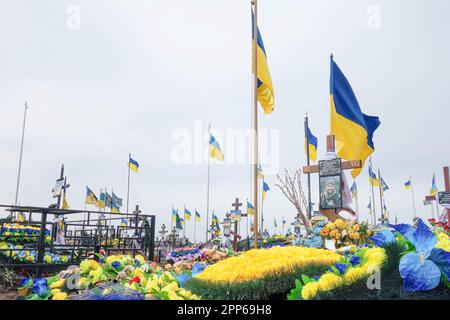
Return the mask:
<svg viewBox="0 0 450 320"><path fill-rule="evenodd" d="M198 266L189 274L176 275L163 271L141 255L98 255L98 261L83 260L79 266L72 266L53 277L23 279L19 293L32 300L67 300L80 297L95 300L197 300L200 297L183 288L183 285L192 274L202 270L203 267ZM121 294L124 296L121 297Z"/></svg>

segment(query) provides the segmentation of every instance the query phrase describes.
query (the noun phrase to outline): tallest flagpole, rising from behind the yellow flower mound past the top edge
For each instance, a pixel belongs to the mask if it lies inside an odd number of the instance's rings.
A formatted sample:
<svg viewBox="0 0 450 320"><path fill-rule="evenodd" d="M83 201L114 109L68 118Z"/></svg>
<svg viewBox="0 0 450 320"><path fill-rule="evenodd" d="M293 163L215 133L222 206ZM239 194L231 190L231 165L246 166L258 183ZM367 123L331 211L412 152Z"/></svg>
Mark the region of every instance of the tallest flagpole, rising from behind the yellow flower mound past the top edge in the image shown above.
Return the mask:
<svg viewBox="0 0 450 320"><path fill-rule="evenodd" d="M254 247L258 248L258 0L253 0L253 203L254 216Z"/></svg>

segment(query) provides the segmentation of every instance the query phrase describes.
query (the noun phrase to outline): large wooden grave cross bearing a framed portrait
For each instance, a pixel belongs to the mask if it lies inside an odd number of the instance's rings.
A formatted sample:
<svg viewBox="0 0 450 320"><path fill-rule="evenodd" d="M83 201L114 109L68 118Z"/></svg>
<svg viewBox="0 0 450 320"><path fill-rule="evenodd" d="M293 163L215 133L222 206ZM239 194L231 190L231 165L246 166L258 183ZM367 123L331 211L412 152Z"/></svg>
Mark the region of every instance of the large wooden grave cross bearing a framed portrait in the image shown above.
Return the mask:
<svg viewBox="0 0 450 320"><path fill-rule="evenodd" d="M336 144L335 144L335 137L334 135L328 135L327 136L327 152L328 153L335 153L336 152ZM324 175L324 178L327 178L326 182L326 188L330 188L330 190L332 190L333 186L328 186L328 184L331 184L331 182L333 181L333 179L335 179L336 182L340 182L341 185L340 186L334 186L335 188L337 187L339 190L341 190L342 187L342 182L340 180L340 175L341 175L341 170L352 170L352 169L357 169L357 168L361 168L362 167L362 161L361 160L350 160L350 161L341 161L340 158L337 159L333 159L330 160L330 162L333 161L333 163L331 163L331 167L328 164L328 161L319 161L319 165L312 165L312 166L304 166L303 167L303 173L304 174L309 174L309 173L319 173L319 179L322 178L322 175ZM336 163L338 164L338 167L336 167ZM323 165L322 165L323 164ZM332 167L334 165L334 167ZM330 172L333 170L337 170L335 172L334 176L329 176L326 177L326 173L325 169L328 169ZM322 195L320 195L322 200ZM342 196L340 197L336 197L338 200L340 200L341 204L336 204L337 201L333 201L333 199L330 200L331 203L335 202L335 205L330 205L330 207L333 208L327 208L326 206L323 205L323 202L320 201L320 205L319 205L319 212L328 218L328 220L330 221L336 221L337 219L342 219L341 216L339 216L337 214L337 210L342 208ZM340 198L340 199L339 199Z"/></svg>

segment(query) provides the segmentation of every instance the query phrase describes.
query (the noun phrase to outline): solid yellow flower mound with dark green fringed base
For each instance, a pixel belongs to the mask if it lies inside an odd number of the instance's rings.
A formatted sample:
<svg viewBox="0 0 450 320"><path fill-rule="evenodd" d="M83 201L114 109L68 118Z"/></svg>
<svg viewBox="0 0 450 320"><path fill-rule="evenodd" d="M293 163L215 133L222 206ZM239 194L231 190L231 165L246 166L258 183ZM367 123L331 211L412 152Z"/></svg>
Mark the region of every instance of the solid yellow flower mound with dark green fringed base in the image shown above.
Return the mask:
<svg viewBox="0 0 450 320"><path fill-rule="evenodd" d="M340 257L294 246L252 249L208 266L186 288L206 299L267 299L287 292L301 274L324 272Z"/></svg>

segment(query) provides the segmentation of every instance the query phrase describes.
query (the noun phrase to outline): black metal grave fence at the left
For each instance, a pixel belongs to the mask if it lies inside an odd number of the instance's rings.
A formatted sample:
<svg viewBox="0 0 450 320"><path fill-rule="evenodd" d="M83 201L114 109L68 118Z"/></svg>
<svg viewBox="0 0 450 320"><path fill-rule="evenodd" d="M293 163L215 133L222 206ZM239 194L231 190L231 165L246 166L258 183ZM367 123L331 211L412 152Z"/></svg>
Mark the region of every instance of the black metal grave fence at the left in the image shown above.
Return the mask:
<svg viewBox="0 0 450 320"><path fill-rule="evenodd" d="M106 255L142 254L155 260L154 215L5 205L0 208L10 216L25 217L22 222L0 222L0 267L41 276L88 257L96 259L101 250ZM11 226L29 232L17 236Z"/></svg>

